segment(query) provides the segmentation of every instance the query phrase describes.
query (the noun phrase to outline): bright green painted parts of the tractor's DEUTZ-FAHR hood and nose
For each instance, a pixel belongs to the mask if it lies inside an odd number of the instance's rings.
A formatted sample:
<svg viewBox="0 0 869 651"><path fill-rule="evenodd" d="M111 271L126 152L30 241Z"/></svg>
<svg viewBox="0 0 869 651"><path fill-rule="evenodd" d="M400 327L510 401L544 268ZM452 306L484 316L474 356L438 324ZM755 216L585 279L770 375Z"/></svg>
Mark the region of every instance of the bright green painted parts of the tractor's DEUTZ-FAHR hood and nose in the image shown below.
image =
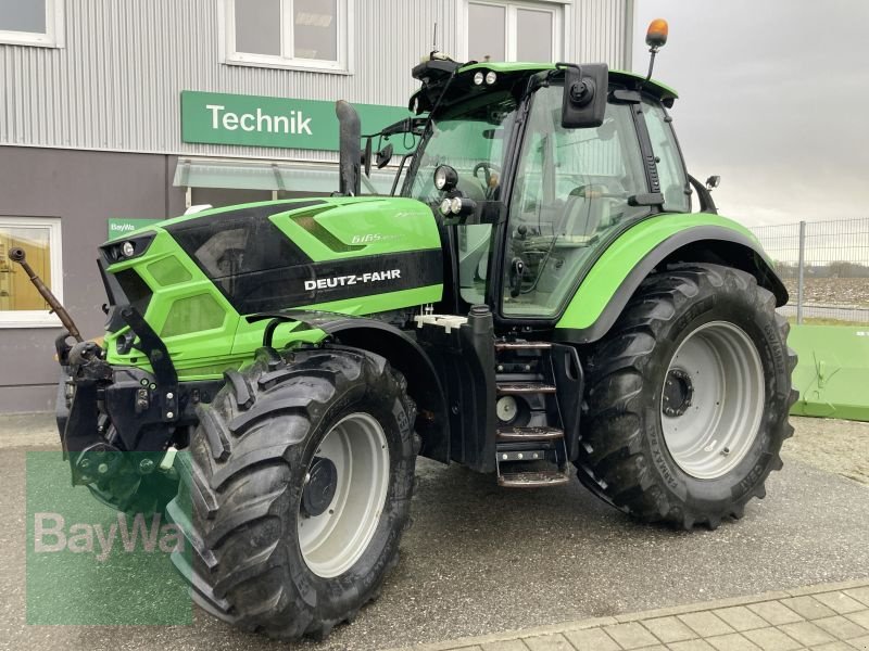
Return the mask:
<svg viewBox="0 0 869 651"><path fill-rule="evenodd" d="M374 256L394 252L440 250L440 235L431 209L423 203L399 197L329 197L322 205L307 202L262 202L205 210L169 219L126 238L156 233L148 251L136 258L115 263L110 273L135 269L153 292L144 318L162 336L173 363L182 380L205 380L219 376L228 368L249 360L262 345L267 321L249 323L239 315L214 282L185 253L165 227L191 219L207 219L227 210L275 206L269 220L312 258L314 264L344 258ZM298 207L298 204L303 204ZM304 309L347 315L370 315L407 308L441 299L443 284L413 288L342 301L305 305ZM178 311L173 307L188 301L185 310L188 323L178 327ZM290 309L293 305L285 306ZM203 309L206 308L206 309ZM176 307L177 310L177 307ZM179 333L179 330L181 331ZM318 342L324 333L295 324L281 326L275 333L276 346L293 342ZM148 359L137 350L117 353L117 340L128 331L122 328L105 335L108 361L118 366L136 366L150 370ZM171 336L166 336L166 332Z"/></svg>

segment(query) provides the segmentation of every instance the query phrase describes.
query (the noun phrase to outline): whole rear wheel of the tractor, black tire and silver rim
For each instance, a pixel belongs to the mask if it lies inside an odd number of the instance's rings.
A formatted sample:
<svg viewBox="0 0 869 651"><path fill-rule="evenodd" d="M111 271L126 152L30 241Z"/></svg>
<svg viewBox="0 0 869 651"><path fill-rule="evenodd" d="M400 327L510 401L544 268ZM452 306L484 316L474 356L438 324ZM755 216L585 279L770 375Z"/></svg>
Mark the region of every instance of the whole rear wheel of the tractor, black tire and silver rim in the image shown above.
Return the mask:
<svg viewBox="0 0 869 651"><path fill-rule="evenodd" d="M748 273L680 265L651 276L587 359L580 481L646 522L741 518L793 432L786 335Z"/></svg>

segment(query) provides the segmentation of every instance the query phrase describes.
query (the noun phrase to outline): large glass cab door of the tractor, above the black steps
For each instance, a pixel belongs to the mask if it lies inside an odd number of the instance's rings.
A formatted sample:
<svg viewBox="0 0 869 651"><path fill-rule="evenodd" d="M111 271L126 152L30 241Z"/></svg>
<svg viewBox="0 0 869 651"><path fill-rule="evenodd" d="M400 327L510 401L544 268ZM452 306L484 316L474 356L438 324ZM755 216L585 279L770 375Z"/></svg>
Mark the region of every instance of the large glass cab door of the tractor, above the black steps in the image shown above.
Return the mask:
<svg viewBox="0 0 869 651"><path fill-rule="evenodd" d="M610 103L600 127L570 129L562 98L553 85L531 99L508 202L506 320L555 318L610 237L648 214L629 201L648 192L632 107Z"/></svg>

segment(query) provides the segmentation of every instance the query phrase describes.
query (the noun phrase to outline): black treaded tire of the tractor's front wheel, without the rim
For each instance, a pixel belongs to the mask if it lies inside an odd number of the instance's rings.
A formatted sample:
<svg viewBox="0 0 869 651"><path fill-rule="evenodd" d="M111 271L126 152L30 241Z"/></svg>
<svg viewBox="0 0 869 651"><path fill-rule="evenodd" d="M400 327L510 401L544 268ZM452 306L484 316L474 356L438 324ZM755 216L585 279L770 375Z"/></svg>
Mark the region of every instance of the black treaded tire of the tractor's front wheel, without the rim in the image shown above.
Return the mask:
<svg viewBox="0 0 869 651"><path fill-rule="evenodd" d="M340 575L313 572L298 525L306 474L320 442L349 414L379 423L389 481L374 534ZM415 408L404 379L353 348L261 349L200 410L171 518L188 532L194 600L212 614L280 639L324 637L374 599L398 562L416 458ZM377 446L378 449L382 446ZM331 511L329 511L331 513ZM189 514L189 520L188 520ZM304 522L303 522L304 525Z"/></svg>

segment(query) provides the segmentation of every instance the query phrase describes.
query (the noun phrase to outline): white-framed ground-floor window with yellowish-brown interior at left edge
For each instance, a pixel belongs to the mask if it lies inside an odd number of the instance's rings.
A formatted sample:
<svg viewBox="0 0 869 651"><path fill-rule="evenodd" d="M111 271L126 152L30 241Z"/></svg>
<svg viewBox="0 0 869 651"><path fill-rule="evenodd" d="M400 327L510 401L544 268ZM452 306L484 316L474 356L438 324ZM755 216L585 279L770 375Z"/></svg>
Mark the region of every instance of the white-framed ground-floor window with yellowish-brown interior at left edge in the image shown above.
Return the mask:
<svg viewBox="0 0 869 651"><path fill-rule="evenodd" d="M24 250L27 264L62 302L61 220L0 217L0 328L60 326L24 269L9 259L15 247Z"/></svg>

